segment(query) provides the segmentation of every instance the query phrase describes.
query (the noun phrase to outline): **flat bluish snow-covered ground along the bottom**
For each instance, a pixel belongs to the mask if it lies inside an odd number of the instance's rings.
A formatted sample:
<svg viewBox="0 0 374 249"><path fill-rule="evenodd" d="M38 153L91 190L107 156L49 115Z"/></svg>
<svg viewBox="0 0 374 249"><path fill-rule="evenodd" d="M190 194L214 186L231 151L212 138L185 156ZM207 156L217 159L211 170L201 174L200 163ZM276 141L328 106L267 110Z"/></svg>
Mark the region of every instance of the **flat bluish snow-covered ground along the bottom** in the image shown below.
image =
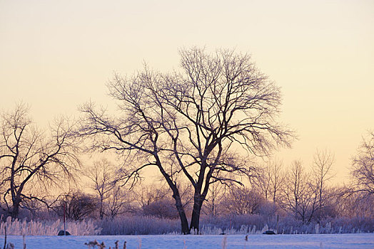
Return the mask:
<svg viewBox="0 0 374 249"><path fill-rule="evenodd" d="M104 241L106 249L119 240L119 248L374 248L374 233L355 234L299 234L299 235L118 235L118 236L26 236L28 249L75 249L88 248L90 240ZM8 236L7 242L22 248L22 236ZM0 248L4 236L0 238Z"/></svg>

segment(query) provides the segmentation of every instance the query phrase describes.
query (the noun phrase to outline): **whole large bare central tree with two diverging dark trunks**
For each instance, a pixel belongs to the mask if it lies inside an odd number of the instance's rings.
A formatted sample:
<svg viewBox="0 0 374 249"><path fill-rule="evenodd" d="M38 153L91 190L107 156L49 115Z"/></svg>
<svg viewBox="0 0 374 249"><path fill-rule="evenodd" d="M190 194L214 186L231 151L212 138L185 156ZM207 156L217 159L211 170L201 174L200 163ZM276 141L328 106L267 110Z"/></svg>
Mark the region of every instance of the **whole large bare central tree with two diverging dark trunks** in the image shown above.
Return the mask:
<svg viewBox="0 0 374 249"><path fill-rule="evenodd" d="M115 75L108 83L121 117L88 103L81 134L93 135L93 149L132 153L126 179L156 166L173 191L182 233L198 233L203 201L211 184L241 184L252 174L249 155L268 155L288 146L293 133L276 121L281 91L248 54L201 48L182 49L181 70L156 73L148 68L132 77ZM238 157L238 152L244 156ZM178 181L193 186L188 227Z"/></svg>

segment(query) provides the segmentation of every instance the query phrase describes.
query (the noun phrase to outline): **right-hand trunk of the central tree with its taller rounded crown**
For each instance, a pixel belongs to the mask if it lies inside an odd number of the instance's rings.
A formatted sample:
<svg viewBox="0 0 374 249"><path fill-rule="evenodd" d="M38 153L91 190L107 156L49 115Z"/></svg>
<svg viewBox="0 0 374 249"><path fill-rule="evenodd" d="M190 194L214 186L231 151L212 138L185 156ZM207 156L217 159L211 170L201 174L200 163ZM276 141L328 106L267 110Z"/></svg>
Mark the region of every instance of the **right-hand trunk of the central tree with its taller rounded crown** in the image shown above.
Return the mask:
<svg viewBox="0 0 374 249"><path fill-rule="evenodd" d="M280 90L256 68L249 55L182 50L181 68L184 74L167 79L162 97L185 124L178 129L186 132L184 143L178 133L168 134L173 153L195 189L190 228L198 231L210 184L239 183L237 176L251 175L249 165L236 164L231 158L232 145L266 155L275 144L288 145L291 132L274 122L281 103ZM186 152L189 158L182 161ZM191 164L197 169L188 171ZM229 172L231 177L221 172Z"/></svg>

